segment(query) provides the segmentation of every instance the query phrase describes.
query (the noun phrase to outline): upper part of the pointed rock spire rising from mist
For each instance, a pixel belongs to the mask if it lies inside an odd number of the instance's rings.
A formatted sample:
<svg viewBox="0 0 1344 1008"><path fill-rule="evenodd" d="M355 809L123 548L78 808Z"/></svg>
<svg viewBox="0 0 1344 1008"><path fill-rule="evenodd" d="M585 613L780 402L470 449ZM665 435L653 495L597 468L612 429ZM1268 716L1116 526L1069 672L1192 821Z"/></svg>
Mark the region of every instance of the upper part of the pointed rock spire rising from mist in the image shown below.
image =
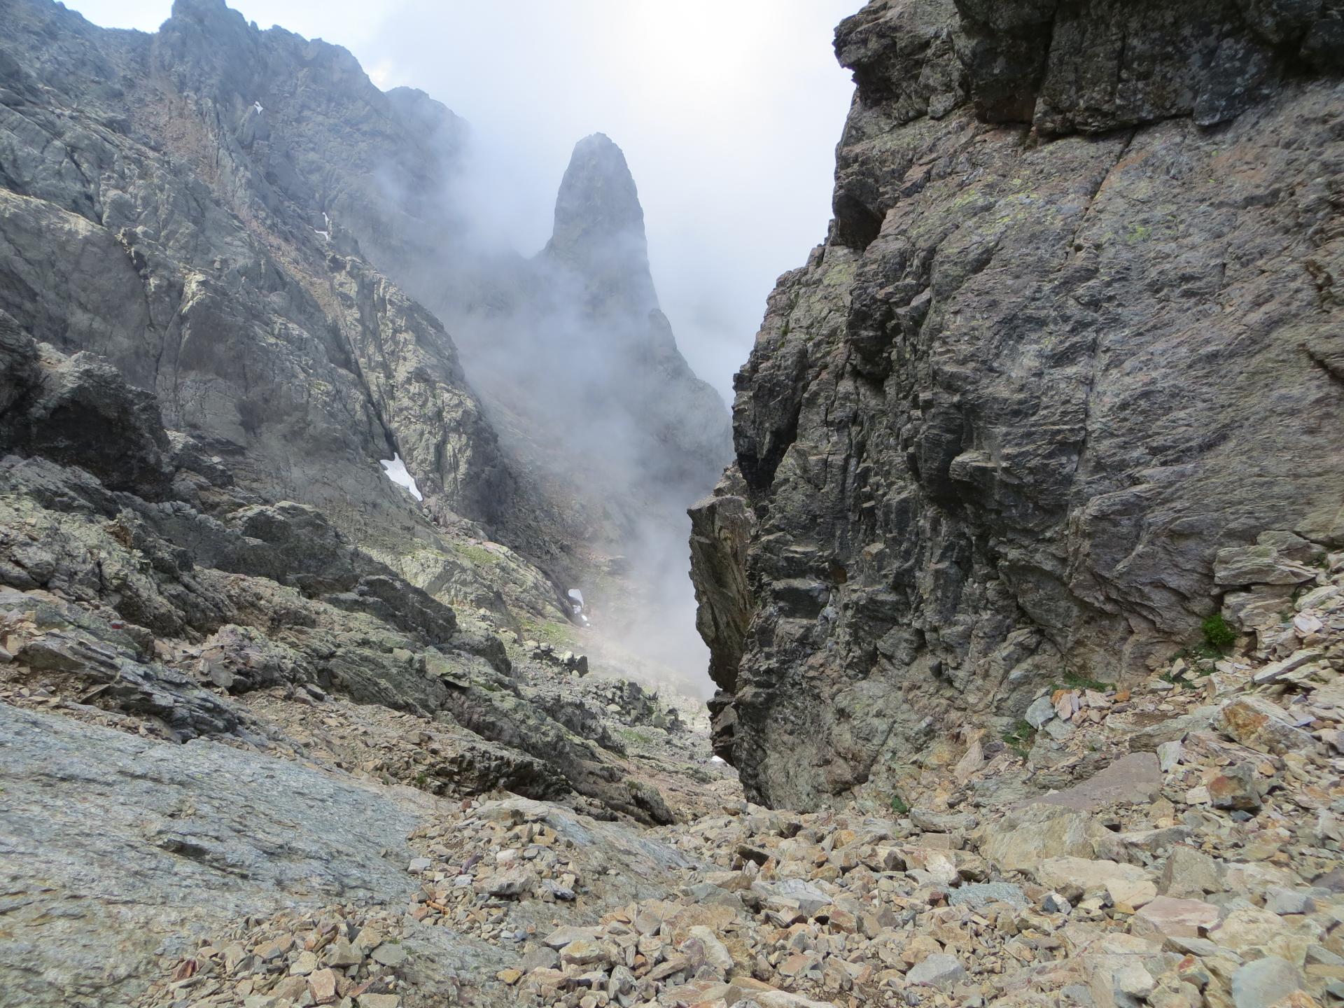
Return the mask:
<svg viewBox="0 0 1344 1008"><path fill-rule="evenodd" d="M574 269L595 308L657 308L644 208L625 155L605 133L583 137L555 198L546 255Z"/></svg>

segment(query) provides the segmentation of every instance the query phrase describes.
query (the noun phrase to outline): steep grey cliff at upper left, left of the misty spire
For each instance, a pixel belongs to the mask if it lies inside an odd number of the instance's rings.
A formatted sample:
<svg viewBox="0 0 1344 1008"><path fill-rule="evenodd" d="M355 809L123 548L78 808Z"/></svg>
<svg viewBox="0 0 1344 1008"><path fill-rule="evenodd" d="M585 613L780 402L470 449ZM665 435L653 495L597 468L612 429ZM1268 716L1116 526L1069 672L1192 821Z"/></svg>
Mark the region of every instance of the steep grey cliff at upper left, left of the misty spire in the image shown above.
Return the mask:
<svg viewBox="0 0 1344 1008"><path fill-rule="evenodd" d="M331 223L378 210L374 183L343 188L375 148L414 149L347 52L185 1L155 36L15 4L3 50L0 306L106 356L269 497L376 528L409 500L378 464L401 453L430 509L505 521L513 480L452 341ZM337 156L323 101L399 136Z"/></svg>

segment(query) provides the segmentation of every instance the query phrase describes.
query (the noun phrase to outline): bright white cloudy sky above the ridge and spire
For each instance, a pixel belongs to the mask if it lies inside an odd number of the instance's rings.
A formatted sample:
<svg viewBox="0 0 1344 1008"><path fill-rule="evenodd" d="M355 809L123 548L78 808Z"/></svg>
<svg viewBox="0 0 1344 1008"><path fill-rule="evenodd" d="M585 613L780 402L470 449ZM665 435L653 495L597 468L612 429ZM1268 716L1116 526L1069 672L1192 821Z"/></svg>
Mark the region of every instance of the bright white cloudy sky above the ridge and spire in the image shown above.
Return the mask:
<svg viewBox="0 0 1344 1008"><path fill-rule="evenodd" d="M155 31L169 0L67 0ZM640 188L664 310L692 367L731 395L774 278L831 216L852 86L832 28L862 0L233 0L345 46L380 87L429 91L473 129L482 214L520 251L550 237L574 142L602 132Z"/></svg>

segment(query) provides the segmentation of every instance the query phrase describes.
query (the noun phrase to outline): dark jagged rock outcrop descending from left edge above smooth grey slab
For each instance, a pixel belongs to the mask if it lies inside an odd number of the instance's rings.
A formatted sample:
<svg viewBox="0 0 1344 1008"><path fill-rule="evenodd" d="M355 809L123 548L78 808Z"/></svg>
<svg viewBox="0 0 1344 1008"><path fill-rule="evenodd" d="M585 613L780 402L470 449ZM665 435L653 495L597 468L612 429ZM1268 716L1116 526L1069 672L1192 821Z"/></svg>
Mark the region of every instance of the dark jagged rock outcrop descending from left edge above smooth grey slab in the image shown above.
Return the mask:
<svg viewBox="0 0 1344 1008"><path fill-rule="evenodd" d="M263 742L234 698L335 694L452 726L454 788L653 816L599 720L552 718L497 637L462 632L321 512L250 503L215 461L195 473L199 446L175 453L153 396L86 352L0 317L0 626L32 624L5 656L24 675L175 741ZM200 482L218 517L192 500ZM202 641L198 661L176 657Z"/></svg>

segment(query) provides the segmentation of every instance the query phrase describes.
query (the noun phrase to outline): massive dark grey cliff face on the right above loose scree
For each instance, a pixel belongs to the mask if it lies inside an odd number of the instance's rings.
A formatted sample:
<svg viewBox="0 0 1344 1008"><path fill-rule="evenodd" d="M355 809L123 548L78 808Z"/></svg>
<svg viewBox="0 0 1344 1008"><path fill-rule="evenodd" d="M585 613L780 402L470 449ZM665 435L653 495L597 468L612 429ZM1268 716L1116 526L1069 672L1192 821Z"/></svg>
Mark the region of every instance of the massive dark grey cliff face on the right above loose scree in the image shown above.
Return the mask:
<svg viewBox="0 0 1344 1008"><path fill-rule="evenodd" d="M1218 0L840 26L835 222L692 509L750 794L816 806L1068 673L1130 681L1238 620L1261 575L1220 548L1344 542L1341 32Z"/></svg>

